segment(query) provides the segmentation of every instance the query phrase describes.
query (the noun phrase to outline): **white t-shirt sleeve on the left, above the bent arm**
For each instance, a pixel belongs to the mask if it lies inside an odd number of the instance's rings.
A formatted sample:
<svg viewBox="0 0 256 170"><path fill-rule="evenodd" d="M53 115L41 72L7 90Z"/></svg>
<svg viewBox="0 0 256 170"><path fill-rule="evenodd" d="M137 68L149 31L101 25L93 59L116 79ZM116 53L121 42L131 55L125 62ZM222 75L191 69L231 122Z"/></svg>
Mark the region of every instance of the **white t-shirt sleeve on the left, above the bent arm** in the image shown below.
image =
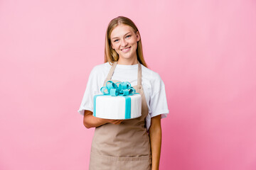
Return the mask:
<svg viewBox="0 0 256 170"><path fill-rule="evenodd" d="M93 96L98 93L97 85L97 73L95 72L95 68L93 68L90 72L85 93L82 97L82 102L78 110L78 113L81 115L85 114L85 110L93 112Z"/></svg>

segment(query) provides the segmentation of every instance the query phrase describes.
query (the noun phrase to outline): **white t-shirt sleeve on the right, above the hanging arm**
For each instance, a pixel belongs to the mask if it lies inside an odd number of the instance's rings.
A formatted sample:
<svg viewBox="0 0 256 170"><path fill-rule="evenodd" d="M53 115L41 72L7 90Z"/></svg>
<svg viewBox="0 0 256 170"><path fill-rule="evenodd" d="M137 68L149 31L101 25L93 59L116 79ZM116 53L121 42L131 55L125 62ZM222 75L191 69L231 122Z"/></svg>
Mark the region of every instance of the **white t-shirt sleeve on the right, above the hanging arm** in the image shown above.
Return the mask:
<svg viewBox="0 0 256 170"><path fill-rule="evenodd" d="M152 96L150 98L149 106L151 108L150 117L161 115L161 118L166 118L169 113L166 91L164 81L162 81L159 74L156 75L156 79L153 84Z"/></svg>

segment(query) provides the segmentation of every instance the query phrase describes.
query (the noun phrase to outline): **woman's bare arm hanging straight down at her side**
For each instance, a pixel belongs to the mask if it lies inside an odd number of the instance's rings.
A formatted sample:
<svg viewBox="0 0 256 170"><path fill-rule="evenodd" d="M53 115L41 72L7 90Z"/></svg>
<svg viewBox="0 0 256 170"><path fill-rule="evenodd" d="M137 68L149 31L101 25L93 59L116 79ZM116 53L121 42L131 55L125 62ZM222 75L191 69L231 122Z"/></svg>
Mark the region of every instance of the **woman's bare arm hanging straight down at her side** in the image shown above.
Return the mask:
<svg viewBox="0 0 256 170"><path fill-rule="evenodd" d="M158 170L161 153L161 115L156 115L151 118L149 138L152 155L152 170Z"/></svg>

